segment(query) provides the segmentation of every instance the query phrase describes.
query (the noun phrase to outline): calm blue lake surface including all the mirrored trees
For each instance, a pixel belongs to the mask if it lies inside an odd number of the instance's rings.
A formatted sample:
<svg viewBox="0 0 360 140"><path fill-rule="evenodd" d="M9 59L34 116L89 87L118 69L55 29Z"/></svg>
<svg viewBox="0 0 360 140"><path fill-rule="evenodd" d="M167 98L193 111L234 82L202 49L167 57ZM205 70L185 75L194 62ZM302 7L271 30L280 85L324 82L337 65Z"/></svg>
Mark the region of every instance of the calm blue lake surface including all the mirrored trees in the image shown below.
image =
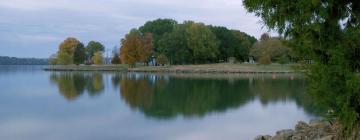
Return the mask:
<svg viewBox="0 0 360 140"><path fill-rule="evenodd" d="M316 117L298 75L0 66L1 140L251 140Z"/></svg>

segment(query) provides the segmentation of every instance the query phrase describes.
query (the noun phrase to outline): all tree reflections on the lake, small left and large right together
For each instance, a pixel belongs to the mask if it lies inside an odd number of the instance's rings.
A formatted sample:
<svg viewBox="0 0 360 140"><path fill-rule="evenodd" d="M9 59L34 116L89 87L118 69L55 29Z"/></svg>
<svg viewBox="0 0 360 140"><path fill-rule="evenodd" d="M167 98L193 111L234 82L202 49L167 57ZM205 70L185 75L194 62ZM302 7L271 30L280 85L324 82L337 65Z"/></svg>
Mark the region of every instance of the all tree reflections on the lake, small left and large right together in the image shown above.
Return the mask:
<svg viewBox="0 0 360 140"><path fill-rule="evenodd" d="M94 96L104 90L101 73L53 73L50 79L67 100L86 91ZM111 82L130 108L156 119L201 118L255 100L263 106L295 102L313 115L324 110L314 107L312 99L304 94L306 84L302 76L113 73Z"/></svg>

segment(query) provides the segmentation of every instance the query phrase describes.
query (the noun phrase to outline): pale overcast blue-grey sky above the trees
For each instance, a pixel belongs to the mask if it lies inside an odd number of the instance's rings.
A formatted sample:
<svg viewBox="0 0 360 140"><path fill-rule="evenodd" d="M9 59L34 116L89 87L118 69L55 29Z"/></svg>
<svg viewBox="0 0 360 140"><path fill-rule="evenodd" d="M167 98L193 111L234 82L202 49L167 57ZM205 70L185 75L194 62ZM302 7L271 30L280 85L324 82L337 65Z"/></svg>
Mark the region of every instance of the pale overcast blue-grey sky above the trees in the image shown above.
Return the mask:
<svg viewBox="0 0 360 140"><path fill-rule="evenodd" d="M67 37L111 50L131 28L157 18L225 26L256 38L267 31L242 0L0 0L0 56L47 58Z"/></svg>

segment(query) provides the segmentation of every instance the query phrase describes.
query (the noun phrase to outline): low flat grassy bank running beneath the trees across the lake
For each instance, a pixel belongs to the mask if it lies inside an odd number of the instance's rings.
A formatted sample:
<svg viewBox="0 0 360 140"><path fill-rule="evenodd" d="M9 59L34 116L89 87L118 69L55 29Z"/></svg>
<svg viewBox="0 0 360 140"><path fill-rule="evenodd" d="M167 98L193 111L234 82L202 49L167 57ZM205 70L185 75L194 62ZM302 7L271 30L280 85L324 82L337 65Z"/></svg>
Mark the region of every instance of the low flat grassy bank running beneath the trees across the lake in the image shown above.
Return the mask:
<svg viewBox="0 0 360 140"><path fill-rule="evenodd" d="M256 64L203 64L174 66L138 66L129 68L127 65L54 65L44 68L46 71L121 71L146 73L298 73L293 70L295 65L256 65Z"/></svg>

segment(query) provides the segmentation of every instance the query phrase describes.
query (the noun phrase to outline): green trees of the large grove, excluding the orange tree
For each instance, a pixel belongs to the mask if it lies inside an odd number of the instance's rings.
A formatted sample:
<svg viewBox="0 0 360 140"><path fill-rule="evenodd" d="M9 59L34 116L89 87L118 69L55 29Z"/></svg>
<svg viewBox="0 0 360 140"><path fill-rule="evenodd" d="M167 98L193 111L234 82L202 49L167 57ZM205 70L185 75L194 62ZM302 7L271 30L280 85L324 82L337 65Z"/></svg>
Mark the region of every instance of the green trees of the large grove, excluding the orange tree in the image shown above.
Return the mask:
<svg viewBox="0 0 360 140"><path fill-rule="evenodd" d="M257 41L226 27L206 26L193 21L178 24L172 19L146 22L139 31L152 34L153 55L166 55L171 64L219 62L227 61L229 57L245 61L249 48Z"/></svg>

